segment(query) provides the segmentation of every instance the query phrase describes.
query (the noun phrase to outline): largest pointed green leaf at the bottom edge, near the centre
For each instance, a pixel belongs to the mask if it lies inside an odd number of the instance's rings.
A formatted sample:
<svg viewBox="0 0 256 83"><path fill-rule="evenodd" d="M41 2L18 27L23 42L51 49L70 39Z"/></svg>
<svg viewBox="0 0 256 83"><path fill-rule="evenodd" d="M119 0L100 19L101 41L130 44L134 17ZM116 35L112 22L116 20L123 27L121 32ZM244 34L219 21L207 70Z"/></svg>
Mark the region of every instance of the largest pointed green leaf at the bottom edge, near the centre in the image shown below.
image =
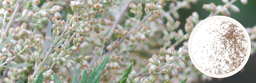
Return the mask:
<svg viewBox="0 0 256 83"><path fill-rule="evenodd" d="M98 79L100 79L100 75L102 74L102 72L107 64L108 59L109 59L109 55L104 58L104 60L98 65L98 67L94 71L92 71L87 83L96 83L98 81Z"/></svg>

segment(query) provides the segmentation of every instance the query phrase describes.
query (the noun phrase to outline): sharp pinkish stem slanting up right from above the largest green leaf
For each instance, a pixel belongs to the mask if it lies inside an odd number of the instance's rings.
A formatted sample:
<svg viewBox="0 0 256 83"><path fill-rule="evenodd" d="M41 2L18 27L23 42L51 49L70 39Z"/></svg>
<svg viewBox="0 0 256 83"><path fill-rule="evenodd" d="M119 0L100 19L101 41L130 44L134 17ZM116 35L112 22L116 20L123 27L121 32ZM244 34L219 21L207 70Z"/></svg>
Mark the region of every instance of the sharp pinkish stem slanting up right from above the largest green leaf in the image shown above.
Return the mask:
<svg viewBox="0 0 256 83"><path fill-rule="evenodd" d="M140 26L140 24L144 23L144 22L148 19L148 17L149 17L151 14L152 14L152 11L151 11L144 19L142 19L138 24L136 24L136 25L129 31L129 33L128 33L126 36L124 36L124 37L118 42L118 45L119 45L122 41L124 41L124 39L127 38L127 37L129 36L129 34L132 33L132 30L133 30L133 29L136 29L138 26ZM117 46L118 46L118 45L117 45ZM113 52L114 49L116 49L117 46L114 46L113 49L109 50L108 53L103 56L103 58L105 58L107 55L109 55L111 52Z"/></svg>

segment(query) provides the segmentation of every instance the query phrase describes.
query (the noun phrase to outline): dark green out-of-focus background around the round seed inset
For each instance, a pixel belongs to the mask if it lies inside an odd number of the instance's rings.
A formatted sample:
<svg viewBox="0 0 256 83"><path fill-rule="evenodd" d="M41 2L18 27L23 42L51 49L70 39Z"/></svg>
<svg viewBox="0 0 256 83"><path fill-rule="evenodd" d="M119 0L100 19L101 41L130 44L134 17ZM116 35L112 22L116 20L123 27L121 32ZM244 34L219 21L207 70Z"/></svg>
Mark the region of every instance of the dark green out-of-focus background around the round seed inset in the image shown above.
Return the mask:
<svg viewBox="0 0 256 83"><path fill-rule="evenodd" d="M217 5L224 5L221 0L199 0L197 4L191 4L191 9L180 9L179 21L181 22L180 28L184 29L186 18L196 11L199 14L199 19L206 19L210 11L204 10L203 4L214 3ZM248 0L246 5L242 4L240 0L233 3L240 9L240 13L230 12L230 17L240 22L245 28L253 27L256 25L256 0ZM230 9L229 9L230 11ZM184 30L183 30L184 31ZM222 79L213 78L212 81L205 81L205 83L256 83L256 55L253 54L249 57L248 62L244 66L243 72ZM201 80L199 83L204 83Z"/></svg>

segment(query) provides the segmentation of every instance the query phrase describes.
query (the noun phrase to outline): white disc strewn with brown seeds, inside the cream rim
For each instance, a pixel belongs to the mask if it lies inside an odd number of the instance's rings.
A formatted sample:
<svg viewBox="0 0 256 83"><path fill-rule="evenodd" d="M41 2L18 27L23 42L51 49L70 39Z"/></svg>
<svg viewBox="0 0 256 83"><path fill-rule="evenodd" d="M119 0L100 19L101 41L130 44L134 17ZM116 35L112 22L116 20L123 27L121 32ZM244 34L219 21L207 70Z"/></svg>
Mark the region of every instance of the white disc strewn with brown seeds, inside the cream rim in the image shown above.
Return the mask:
<svg viewBox="0 0 256 83"><path fill-rule="evenodd" d="M209 21L196 31L195 36L192 43L193 56L200 67L207 72L213 74L232 72L245 59L247 53L245 35L236 24L228 20Z"/></svg>

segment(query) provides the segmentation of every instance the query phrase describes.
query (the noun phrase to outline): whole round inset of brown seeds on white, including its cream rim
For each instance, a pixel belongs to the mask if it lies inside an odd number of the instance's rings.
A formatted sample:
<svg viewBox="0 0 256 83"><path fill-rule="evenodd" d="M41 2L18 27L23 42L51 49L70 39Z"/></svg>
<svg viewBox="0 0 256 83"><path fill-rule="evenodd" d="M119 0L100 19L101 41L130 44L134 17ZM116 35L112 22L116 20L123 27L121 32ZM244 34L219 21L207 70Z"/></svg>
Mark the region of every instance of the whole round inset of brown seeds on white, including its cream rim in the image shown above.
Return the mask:
<svg viewBox="0 0 256 83"><path fill-rule="evenodd" d="M213 16L194 28L188 50L200 72L225 78L244 67L250 56L251 42L245 28L235 19Z"/></svg>

